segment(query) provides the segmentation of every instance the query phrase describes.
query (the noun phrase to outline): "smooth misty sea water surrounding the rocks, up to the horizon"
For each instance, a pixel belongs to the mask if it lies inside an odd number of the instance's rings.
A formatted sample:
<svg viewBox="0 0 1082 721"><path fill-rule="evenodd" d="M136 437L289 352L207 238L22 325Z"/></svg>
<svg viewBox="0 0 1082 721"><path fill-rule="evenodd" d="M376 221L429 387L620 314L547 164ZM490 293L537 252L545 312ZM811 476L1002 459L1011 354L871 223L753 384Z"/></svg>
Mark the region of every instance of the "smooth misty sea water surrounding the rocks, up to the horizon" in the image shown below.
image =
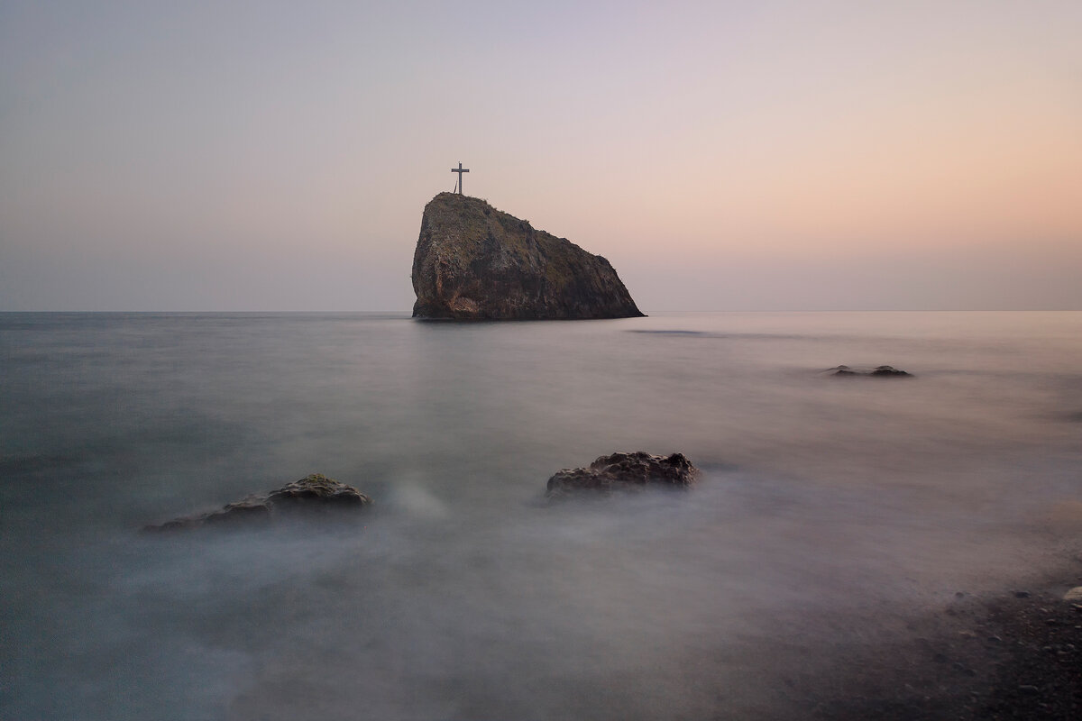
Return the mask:
<svg viewBox="0 0 1082 721"><path fill-rule="evenodd" d="M6 313L0 363L2 718L792 718L1082 529L1079 312ZM617 450L700 483L544 502ZM374 505L140 532L317 471Z"/></svg>

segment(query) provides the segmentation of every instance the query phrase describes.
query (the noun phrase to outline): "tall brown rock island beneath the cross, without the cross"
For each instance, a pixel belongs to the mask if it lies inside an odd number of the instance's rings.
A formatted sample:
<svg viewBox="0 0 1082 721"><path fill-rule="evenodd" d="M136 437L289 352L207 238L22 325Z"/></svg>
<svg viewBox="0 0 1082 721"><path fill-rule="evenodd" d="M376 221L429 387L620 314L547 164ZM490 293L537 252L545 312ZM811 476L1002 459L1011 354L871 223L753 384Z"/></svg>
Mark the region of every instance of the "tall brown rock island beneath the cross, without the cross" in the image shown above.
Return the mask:
<svg viewBox="0 0 1082 721"><path fill-rule="evenodd" d="M643 313L609 262L479 198L441 192L413 253L414 318L632 318Z"/></svg>

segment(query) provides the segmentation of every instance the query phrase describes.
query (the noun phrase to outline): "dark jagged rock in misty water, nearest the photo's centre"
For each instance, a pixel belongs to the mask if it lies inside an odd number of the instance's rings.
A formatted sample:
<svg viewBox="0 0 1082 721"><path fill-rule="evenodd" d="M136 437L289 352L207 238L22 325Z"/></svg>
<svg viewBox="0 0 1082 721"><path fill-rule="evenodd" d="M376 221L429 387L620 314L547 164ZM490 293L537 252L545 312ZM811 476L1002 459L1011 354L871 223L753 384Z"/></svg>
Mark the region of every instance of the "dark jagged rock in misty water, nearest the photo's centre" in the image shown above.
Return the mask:
<svg viewBox="0 0 1082 721"><path fill-rule="evenodd" d="M647 486L688 489L699 469L683 453L656 456L643 451L602 456L589 468L564 468L549 479L550 498L571 494L643 491Z"/></svg>

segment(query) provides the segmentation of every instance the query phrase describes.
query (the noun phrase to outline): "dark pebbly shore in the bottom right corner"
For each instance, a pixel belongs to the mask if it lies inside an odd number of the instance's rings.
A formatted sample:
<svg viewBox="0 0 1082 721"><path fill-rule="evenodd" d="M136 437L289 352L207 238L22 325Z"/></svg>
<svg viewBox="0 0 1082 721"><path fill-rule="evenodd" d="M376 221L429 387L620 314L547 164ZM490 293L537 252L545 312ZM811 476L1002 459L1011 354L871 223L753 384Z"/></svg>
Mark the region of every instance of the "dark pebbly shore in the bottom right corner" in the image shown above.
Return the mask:
<svg viewBox="0 0 1082 721"><path fill-rule="evenodd" d="M907 639L850 649L787 695L840 721L1082 719L1082 603L1064 599L1080 584L1076 560L1039 586L960 591Z"/></svg>

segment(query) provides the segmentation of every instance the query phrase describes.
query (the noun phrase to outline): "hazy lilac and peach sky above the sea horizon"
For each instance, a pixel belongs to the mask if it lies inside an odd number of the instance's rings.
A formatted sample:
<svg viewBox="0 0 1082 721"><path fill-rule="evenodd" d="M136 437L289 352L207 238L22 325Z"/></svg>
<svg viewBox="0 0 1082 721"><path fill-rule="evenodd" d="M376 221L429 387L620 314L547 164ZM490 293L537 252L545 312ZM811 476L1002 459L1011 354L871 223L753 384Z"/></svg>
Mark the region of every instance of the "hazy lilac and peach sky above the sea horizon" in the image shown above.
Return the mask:
<svg viewBox="0 0 1082 721"><path fill-rule="evenodd" d="M424 204L639 307L1082 309L1082 2L0 0L0 310L408 310Z"/></svg>

